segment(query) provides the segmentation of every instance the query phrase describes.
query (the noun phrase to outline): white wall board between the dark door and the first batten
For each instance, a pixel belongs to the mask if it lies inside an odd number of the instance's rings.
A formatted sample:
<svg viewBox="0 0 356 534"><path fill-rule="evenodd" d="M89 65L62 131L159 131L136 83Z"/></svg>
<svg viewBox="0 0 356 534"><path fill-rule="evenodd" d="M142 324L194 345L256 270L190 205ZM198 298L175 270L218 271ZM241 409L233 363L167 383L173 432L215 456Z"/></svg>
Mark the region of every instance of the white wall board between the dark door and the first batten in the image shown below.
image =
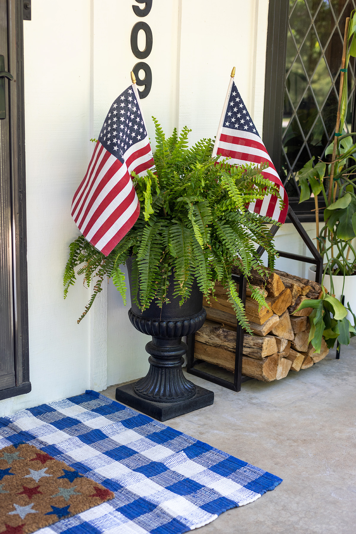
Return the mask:
<svg viewBox="0 0 356 534"><path fill-rule="evenodd" d="M78 283L64 301L62 286L89 156L90 3L36 0L23 26L32 391L1 401L2 415L90 387L90 320L77 325L90 291Z"/></svg>

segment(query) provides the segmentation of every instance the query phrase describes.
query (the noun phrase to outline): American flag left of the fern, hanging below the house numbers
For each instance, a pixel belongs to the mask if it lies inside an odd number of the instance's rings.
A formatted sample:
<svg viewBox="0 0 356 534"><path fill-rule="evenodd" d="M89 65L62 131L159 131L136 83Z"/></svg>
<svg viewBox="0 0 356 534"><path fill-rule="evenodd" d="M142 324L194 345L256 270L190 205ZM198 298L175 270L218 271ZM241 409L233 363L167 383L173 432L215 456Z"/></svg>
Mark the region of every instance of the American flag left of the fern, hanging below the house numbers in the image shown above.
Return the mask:
<svg viewBox="0 0 356 534"><path fill-rule="evenodd" d="M131 172L154 169L136 84L109 109L86 175L72 201L72 217L84 237L107 256L136 223L140 203Z"/></svg>

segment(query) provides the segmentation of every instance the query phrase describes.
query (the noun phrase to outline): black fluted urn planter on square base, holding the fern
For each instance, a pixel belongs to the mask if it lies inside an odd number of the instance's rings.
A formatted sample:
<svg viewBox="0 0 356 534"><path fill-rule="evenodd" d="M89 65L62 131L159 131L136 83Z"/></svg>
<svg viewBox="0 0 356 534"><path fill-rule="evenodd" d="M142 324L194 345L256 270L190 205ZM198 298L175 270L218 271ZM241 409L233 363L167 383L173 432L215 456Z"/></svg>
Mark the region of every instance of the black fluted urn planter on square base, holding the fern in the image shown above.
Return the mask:
<svg viewBox="0 0 356 534"><path fill-rule="evenodd" d="M126 261L132 302L129 318L139 332L152 336L152 341L146 345L150 367L144 378L116 388L116 400L160 421L209 406L214 400L213 392L195 386L185 378L181 368L188 348L181 338L199 330L207 316L203 294L194 283L191 296L180 307L180 297L172 295L171 276L170 303L159 308L152 302L141 312L132 299L131 265L130 257Z"/></svg>

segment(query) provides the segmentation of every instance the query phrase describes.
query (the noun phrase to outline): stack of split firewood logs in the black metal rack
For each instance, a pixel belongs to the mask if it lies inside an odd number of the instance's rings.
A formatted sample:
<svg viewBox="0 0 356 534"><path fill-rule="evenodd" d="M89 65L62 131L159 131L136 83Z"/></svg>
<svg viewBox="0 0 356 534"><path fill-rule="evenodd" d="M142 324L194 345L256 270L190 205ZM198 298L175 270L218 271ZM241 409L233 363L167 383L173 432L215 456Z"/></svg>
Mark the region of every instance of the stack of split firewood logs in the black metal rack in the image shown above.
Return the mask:
<svg viewBox="0 0 356 534"><path fill-rule="evenodd" d="M234 272L241 274L238 269ZM296 311L303 300L321 297L320 284L277 270L268 271L267 279L254 271L250 281L265 296L268 306L259 308L247 289L246 316L254 335L243 336L242 374L271 382L325 358L329 350L324 340L320 353L308 343L308 316L312 309ZM207 320L195 334L194 357L234 372L238 323L226 291L219 284L215 286L215 297L210 304L203 302Z"/></svg>

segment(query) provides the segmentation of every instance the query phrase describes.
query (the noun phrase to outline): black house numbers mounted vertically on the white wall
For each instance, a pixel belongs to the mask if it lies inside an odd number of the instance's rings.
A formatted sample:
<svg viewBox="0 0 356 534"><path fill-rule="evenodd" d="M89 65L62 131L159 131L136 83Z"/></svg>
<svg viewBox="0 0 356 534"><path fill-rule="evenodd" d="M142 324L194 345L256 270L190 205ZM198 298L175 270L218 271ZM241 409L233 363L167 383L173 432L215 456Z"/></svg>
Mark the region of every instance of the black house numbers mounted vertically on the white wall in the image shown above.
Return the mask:
<svg viewBox="0 0 356 534"><path fill-rule="evenodd" d="M136 0L136 2L138 4L145 4L145 6L143 7L143 9L141 9L139 6L133 5L132 6L133 12L137 15L137 17L146 17L148 13L151 11L152 0L147 0L147 1ZM145 50L142 50L142 51L138 48L138 32L140 30L143 30L146 35L146 46L145 46ZM133 26L130 41L131 41L132 53L136 58L146 59L149 56L152 50L153 39L152 39L152 30L148 26L147 22L143 22L143 21L137 22L135 26ZM135 74L137 85L145 86L144 89L140 91L140 98L146 98L147 95L149 94L149 91L151 91L151 87L152 87L152 70L149 67L149 65L147 65L147 63L145 63L144 61L139 61L138 63L136 63L135 67L133 67L132 70L133 70L133 74ZM139 77L140 70L144 71L145 73L144 78Z"/></svg>

